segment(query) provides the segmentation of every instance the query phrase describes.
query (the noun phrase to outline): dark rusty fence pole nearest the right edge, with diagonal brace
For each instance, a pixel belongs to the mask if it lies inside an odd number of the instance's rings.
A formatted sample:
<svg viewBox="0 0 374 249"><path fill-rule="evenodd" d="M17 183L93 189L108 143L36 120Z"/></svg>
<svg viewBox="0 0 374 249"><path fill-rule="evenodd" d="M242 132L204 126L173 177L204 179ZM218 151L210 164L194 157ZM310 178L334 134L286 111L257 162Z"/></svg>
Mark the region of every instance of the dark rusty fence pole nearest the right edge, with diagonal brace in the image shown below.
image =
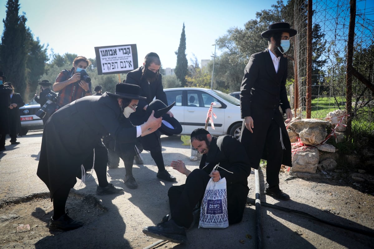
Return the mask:
<svg viewBox="0 0 374 249"><path fill-rule="evenodd" d="M352 74L353 74L353 42L355 40L355 22L356 22L356 0L350 0L350 18L347 43L347 102L346 109L349 117L347 118L346 136L352 135Z"/></svg>

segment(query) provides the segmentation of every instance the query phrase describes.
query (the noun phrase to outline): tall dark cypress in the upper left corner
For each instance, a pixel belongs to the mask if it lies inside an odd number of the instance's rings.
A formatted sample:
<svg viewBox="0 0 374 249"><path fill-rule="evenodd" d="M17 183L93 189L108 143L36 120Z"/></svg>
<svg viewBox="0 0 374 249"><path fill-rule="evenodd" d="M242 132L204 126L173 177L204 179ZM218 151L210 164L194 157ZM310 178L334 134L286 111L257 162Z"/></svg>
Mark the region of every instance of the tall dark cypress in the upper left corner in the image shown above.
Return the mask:
<svg viewBox="0 0 374 249"><path fill-rule="evenodd" d="M18 15L19 1L8 0L4 31L0 44L0 68L13 83L16 92L23 95L26 89L27 28L25 15Z"/></svg>

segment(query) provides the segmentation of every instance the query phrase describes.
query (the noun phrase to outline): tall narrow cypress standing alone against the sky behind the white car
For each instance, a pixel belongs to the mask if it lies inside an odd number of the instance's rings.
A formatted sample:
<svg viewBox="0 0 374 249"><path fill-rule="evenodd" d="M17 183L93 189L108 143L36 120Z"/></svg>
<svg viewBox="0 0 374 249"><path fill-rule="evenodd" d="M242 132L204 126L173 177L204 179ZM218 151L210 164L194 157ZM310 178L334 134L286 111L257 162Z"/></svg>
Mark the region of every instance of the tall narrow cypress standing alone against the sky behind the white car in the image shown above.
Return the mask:
<svg viewBox="0 0 374 249"><path fill-rule="evenodd" d="M181 40L179 42L178 51L175 52L177 55L177 65L175 66L175 75L181 82L181 86L186 86L186 76L188 74L188 63L186 57L186 34L184 33L184 23L181 33Z"/></svg>

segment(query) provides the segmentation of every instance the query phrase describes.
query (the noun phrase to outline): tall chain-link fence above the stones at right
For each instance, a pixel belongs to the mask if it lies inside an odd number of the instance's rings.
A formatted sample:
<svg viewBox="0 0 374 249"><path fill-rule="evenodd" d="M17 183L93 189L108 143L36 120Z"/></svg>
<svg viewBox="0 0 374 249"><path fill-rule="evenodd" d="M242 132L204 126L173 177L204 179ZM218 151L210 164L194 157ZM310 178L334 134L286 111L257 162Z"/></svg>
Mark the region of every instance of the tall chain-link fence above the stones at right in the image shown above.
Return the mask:
<svg viewBox="0 0 374 249"><path fill-rule="evenodd" d="M362 133L374 135L374 7L370 1L310 0L312 15L307 1L294 4L298 31L294 38L295 115L324 119L330 111L344 110L350 114L347 131L353 139ZM354 36L349 39L349 34Z"/></svg>

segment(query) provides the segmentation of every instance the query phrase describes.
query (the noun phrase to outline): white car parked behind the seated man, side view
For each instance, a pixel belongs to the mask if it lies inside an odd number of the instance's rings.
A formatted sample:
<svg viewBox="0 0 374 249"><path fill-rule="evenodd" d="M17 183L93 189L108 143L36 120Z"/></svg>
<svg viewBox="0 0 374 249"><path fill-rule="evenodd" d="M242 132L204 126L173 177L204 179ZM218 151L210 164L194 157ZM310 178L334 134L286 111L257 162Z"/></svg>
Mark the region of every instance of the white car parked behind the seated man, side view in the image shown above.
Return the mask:
<svg viewBox="0 0 374 249"><path fill-rule="evenodd" d="M214 136L232 135L239 138L242 129L240 102L226 93L197 87L180 87L164 89L168 105L175 101L171 112L174 114L183 131L181 135L191 135L197 128L204 128L206 115L212 102L215 102L213 117L215 129L208 124L208 131Z"/></svg>

